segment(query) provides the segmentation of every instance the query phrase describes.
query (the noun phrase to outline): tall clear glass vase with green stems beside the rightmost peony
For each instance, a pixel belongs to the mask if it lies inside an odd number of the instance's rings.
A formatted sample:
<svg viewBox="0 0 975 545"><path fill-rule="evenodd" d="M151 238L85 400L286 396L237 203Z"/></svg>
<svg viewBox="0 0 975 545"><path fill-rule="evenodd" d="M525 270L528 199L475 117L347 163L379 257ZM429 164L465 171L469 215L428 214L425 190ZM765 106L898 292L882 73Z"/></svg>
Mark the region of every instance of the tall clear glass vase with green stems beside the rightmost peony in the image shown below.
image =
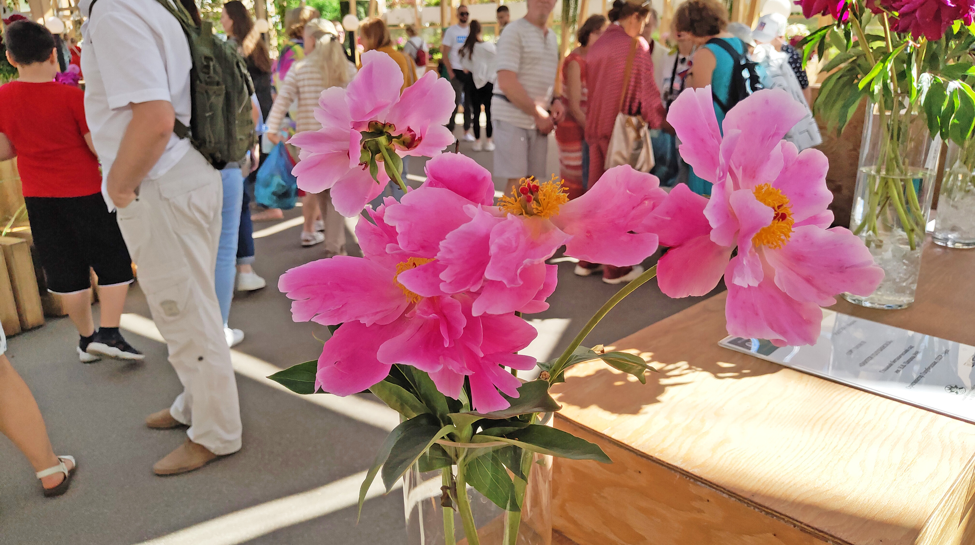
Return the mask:
<svg viewBox="0 0 975 545"><path fill-rule="evenodd" d="M844 293L850 303L872 309L904 309L914 303L940 147L919 104L900 96L867 105L850 230L885 275L870 296Z"/></svg>

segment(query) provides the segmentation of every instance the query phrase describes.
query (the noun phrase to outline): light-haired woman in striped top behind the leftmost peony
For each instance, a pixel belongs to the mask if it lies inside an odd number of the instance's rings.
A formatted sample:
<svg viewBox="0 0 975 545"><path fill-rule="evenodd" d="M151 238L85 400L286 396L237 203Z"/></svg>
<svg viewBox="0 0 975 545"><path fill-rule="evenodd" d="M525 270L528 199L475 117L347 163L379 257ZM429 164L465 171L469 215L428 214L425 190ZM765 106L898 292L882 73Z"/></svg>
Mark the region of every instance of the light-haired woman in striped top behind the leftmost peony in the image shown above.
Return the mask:
<svg viewBox="0 0 975 545"><path fill-rule="evenodd" d="M304 58L288 71L267 117L267 137L274 143L280 140L281 125L292 103L297 103L294 118L296 132L318 130L322 124L315 119L315 108L322 91L331 87L345 88L355 75L356 67L345 57L338 33L331 20L314 18L304 24ZM291 147L291 145L289 145ZM297 157L296 150L290 150ZM318 211L322 212L324 235L315 226ZM305 194L302 198L304 228L301 245L313 246L325 242L331 257L344 253L345 221L331 205L329 190L319 194Z"/></svg>

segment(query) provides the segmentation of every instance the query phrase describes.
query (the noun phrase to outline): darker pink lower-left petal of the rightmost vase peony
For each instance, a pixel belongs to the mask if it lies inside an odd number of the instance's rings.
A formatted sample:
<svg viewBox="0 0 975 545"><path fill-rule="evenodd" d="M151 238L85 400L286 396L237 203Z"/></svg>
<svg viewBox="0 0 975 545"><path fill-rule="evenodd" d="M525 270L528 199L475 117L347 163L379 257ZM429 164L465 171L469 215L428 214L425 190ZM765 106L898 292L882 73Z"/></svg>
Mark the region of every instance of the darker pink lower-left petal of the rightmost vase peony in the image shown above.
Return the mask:
<svg viewBox="0 0 975 545"><path fill-rule="evenodd" d="M687 240L657 262L657 285L667 297L700 297L722 279L730 246L715 244L707 235Z"/></svg>

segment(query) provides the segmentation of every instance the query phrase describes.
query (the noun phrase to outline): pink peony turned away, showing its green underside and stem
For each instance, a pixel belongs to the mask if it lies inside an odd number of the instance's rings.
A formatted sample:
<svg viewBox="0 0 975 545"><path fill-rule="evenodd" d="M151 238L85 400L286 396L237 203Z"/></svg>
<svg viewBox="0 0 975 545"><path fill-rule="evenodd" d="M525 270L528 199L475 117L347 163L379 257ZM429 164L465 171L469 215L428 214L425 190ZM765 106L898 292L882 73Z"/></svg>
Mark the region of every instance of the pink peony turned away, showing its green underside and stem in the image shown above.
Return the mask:
<svg viewBox="0 0 975 545"><path fill-rule="evenodd" d="M444 125L453 111L447 80L427 73L403 95L403 72L389 55L371 51L344 90L322 91L315 119L322 128L299 132L289 140L301 148L292 173L309 193L331 189L335 210L346 217L362 211L389 181L383 168L370 173L370 161L383 162L379 147L400 157L439 154L453 135Z"/></svg>

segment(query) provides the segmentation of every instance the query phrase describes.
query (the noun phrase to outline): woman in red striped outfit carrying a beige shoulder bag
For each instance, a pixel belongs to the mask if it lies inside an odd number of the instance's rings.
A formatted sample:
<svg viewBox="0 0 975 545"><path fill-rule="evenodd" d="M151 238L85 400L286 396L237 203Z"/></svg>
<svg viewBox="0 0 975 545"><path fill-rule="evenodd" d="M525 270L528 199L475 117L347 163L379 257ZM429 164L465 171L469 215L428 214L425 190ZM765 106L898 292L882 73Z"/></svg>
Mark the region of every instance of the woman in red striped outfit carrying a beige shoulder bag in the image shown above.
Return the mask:
<svg viewBox="0 0 975 545"><path fill-rule="evenodd" d="M586 142L589 144L590 185L599 183L603 175L616 114L622 111L630 116L640 116L651 128L664 125L664 107L653 78L649 46L640 37L649 13L649 7L643 3L615 0L608 14L612 24L586 55L586 84L589 89ZM626 61L634 46L636 55L629 80L626 80ZM626 95L623 95L624 86ZM639 265L612 267L584 262L579 262L575 273L588 276L600 269L603 269L603 281L607 284L629 282L643 273Z"/></svg>

